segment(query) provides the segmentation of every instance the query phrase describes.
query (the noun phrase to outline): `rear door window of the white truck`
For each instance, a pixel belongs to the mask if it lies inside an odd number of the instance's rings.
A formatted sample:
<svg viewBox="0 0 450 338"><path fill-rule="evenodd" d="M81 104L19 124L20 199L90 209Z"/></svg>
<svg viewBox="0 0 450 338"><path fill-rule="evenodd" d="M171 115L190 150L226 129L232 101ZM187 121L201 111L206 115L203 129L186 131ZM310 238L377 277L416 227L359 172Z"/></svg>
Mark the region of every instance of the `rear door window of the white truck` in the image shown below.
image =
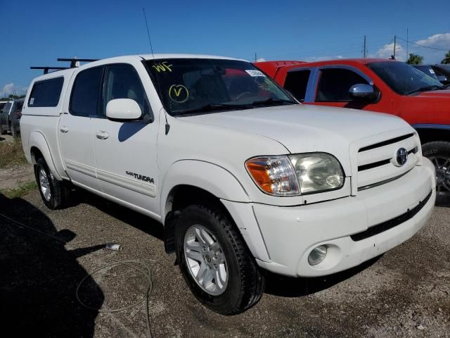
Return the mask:
<svg viewBox="0 0 450 338"><path fill-rule="evenodd" d="M96 118L100 97L103 66L83 70L77 75L70 98L70 113Z"/></svg>

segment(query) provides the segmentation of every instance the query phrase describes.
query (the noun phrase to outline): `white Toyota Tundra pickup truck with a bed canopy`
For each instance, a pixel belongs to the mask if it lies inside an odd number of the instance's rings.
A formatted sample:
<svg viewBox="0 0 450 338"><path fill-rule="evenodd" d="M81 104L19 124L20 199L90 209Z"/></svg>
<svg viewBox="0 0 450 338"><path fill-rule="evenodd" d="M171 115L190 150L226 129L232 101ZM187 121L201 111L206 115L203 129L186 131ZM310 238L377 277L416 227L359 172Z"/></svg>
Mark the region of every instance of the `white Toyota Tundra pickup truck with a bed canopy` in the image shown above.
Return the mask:
<svg viewBox="0 0 450 338"><path fill-rule="evenodd" d="M416 234L435 168L392 115L303 106L247 61L158 54L37 77L21 120L44 204L69 184L165 225L193 294L245 311L264 270L329 275Z"/></svg>

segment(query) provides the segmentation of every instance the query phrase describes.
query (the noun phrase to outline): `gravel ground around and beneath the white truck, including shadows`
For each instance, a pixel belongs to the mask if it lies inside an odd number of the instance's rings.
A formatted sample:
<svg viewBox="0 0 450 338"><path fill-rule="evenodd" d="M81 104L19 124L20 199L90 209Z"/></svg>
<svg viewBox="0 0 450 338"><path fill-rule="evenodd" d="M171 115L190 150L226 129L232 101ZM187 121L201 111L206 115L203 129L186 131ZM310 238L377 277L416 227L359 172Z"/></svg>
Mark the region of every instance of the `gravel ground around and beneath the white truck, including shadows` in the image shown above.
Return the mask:
<svg viewBox="0 0 450 338"><path fill-rule="evenodd" d="M1 326L14 336L145 337L143 303L98 313L75 297L87 273L115 258L150 268L153 337L450 337L450 208L435 208L415 237L344 273L270 275L262 300L230 317L196 301L174 255L164 252L162 226L149 218L85 192L62 211L46 209L37 192L0 196L0 213L62 241L0 217ZM111 242L123 251L102 249ZM79 298L94 308L120 308L143 301L145 289L143 274L119 265L87 278Z"/></svg>

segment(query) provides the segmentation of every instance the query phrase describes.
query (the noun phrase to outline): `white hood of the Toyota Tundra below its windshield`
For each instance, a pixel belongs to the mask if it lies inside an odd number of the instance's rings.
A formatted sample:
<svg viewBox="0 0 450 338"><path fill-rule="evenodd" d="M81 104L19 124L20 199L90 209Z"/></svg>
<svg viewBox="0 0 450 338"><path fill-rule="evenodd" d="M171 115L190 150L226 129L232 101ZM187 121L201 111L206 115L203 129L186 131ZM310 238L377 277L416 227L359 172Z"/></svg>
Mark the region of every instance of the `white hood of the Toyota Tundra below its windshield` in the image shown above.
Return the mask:
<svg viewBox="0 0 450 338"><path fill-rule="evenodd" d="M400 128L412 130L404 120L393 115L310 105L226 111L183 119L269 137L292 154L345 151L347 157L352 142Z"/></svg>

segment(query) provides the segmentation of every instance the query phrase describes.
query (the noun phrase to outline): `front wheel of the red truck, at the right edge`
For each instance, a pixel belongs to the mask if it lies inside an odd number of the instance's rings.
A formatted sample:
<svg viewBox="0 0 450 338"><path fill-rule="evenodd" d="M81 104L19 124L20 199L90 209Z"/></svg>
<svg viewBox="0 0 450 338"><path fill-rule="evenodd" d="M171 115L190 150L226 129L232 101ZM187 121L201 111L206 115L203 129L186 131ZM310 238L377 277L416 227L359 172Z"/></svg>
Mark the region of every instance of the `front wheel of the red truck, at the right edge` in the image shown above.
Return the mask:
<svg viewBox="0 0 450 338"><path fill-rule="evenodd" d="M423 156L432 161L437 175L437 204L450 200L450 142L428 142L422 146ZM445 168L445 169L444 169Z"/></svg>

